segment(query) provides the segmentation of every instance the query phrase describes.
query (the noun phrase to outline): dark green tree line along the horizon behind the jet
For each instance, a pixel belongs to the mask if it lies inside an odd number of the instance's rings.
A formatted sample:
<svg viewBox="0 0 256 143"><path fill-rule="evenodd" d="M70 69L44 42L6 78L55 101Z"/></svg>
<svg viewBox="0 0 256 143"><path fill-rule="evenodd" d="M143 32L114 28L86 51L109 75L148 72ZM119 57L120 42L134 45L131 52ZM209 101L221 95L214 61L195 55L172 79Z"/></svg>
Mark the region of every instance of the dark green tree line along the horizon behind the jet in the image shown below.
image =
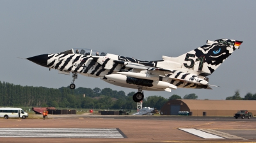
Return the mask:
<svg viewBox="0 0 256 143"><path fill-rule="evenodd" d="M0 81L0 106L9 107L62 107L83 109L136 109L137 104L133 102L132 96L135 92L125 94L124 91L115 91L110 88L99 89L95 87L70 89L61 87L59 89L47 87L20 86ZM195 93L186 94L184 99L196 100ZM143 100L143 107L154 107L161 109L168 100L182 99L173 94L170 98L163 96L148 96ZM239 91L226 100L256 100L256 94L248 93L241 98Z"/></svg>

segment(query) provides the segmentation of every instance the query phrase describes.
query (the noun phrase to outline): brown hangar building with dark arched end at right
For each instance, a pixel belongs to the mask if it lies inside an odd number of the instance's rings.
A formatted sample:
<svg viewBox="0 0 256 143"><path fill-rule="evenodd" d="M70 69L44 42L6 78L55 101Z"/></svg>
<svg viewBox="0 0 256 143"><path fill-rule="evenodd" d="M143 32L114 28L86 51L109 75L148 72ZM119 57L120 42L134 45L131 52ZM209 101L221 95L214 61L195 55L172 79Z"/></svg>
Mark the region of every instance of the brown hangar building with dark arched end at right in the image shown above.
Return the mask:
<svg viewBox="0 0 256 143"><path fill-rule="evenodd" d="M234 116L239 110L256 116L256 100L169 100L161 108L161 115L188 111L189 116Z"/></svg>

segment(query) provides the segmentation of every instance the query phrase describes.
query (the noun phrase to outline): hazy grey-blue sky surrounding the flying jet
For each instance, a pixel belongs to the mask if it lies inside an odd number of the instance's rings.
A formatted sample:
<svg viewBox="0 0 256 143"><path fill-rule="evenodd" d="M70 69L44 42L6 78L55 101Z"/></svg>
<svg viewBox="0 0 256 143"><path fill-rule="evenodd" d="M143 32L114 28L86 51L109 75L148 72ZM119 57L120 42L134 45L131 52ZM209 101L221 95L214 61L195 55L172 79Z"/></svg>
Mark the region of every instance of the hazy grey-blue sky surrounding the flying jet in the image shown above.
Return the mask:
<svg viewBox="0 0 256 143"><path fill-rule="evenodd" d="M206 40L244 43L209 76L207 89L145 91L165 98L195 93L225 99L239 89L256 93L256 1L0 1L0 81L22 86L69 86L58 74L26 59L74 47L152 61L177 57ZM136 91L79 75L77 87Z"/></svg>

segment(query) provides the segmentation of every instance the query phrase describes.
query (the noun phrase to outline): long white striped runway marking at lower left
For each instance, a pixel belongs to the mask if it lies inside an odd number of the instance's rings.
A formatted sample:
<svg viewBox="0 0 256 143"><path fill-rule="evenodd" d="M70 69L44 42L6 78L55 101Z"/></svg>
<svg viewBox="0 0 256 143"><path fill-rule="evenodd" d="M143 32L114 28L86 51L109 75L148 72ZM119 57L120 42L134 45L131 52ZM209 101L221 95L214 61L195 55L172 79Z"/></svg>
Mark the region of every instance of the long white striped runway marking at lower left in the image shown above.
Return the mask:
<svg viewBox="0 0 256 143"><path fill-rule="evenodd" d="M0 137L125 138L118 128L0 128Z"/></svg>

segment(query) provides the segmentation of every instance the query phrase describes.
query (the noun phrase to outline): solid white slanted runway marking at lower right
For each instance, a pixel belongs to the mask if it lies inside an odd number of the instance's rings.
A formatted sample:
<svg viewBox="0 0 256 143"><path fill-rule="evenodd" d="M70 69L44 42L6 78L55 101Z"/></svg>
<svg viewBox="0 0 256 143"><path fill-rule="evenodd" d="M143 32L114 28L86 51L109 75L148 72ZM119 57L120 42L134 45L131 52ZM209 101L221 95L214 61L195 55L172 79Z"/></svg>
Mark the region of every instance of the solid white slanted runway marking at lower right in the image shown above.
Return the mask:
<svg viewBox="0 0 256 143"><path fill-rule="evenodd" d="M200 130L196 130L195 128L179 128L179 130L191 133L198 137L202 137L204 139L224 139L223 137L219 137L217 135L212 135L211 133L205 133Z"/></svg>

